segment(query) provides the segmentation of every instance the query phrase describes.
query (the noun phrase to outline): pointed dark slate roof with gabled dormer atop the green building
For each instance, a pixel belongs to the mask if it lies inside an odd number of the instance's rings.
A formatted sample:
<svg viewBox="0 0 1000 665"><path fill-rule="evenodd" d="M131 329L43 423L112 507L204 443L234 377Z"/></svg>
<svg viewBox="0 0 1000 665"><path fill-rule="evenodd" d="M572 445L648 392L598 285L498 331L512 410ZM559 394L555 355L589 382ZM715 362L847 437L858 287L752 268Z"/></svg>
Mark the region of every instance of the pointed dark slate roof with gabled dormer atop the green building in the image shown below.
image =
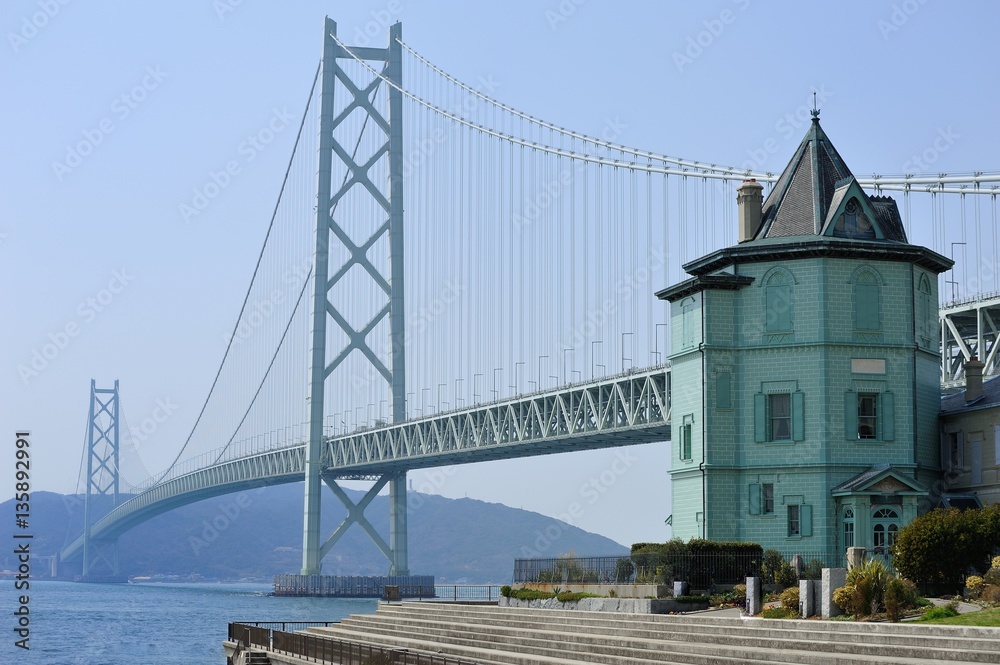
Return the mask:
<svg viewBox="0 0 1000 665"><path fill-rule="evenodd" d="M818 115L761 212L755 240L835 236L906 242L896 202L861 189L820 127ZM845 220L845 212L849 219Z"/></svg>

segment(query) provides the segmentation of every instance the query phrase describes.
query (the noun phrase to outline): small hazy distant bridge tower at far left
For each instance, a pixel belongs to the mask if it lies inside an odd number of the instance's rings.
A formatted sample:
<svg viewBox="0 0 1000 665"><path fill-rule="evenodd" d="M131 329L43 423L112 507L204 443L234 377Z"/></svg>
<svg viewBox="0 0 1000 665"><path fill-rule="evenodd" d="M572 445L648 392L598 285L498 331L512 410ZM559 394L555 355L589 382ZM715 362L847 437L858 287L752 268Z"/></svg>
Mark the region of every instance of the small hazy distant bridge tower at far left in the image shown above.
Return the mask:
<svg viewBox="0 0 1000 665"><path fill-rule="evenodd" d="M119 463L118 379L114 388L98 388L90 380L87 419L87 493L83 504L83 578L118 575L118 540L91 538L94 522L118 505ZM103 416L107 422L102 424ZM110 501L110 503L109 503ZM100 513L100 514L98 514Z"/></svg>

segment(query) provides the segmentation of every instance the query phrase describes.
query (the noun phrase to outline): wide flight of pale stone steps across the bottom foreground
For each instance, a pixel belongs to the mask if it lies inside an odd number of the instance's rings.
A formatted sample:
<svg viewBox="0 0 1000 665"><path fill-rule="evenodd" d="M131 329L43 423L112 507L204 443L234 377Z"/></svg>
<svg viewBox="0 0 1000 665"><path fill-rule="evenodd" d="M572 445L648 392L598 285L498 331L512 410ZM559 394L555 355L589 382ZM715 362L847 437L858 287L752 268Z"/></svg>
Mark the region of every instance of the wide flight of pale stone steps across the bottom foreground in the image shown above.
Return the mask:
<svg viewBox="0 0 1000 665"><path fill-rule="evenodd" d="M1000 663L1000 629L409 602L309 633L488 665Z"/></svg>

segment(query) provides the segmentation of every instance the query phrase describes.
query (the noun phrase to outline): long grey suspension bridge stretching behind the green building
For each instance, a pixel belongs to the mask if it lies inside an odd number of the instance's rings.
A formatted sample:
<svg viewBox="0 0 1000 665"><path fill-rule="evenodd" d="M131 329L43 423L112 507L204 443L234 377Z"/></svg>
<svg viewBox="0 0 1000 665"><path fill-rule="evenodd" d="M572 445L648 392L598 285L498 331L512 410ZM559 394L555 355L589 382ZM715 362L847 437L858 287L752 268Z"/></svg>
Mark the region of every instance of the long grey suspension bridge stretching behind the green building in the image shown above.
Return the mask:
<svg viewBox="0 0 1000 665"><path fill-rule="evenodd" d="M60 553L117 574L116 539L178 506L305 480L303 575L353 524L407 575L407 471L670 439L668 308L653 292L736 243L736 188L778 174L682 159L533 117L389 30L323 56L212 386L145 480L117 383L92 385L83 534ZM1000 174L872 174L941 276L942 383L1000 338ZM981 296L980 294L986 294ZM354 504L338 485L374 481ZM326 484L348 516L325 540ZM364 516L389 486L386 542ZM119 494L131 495L120 501Z"/></svg>

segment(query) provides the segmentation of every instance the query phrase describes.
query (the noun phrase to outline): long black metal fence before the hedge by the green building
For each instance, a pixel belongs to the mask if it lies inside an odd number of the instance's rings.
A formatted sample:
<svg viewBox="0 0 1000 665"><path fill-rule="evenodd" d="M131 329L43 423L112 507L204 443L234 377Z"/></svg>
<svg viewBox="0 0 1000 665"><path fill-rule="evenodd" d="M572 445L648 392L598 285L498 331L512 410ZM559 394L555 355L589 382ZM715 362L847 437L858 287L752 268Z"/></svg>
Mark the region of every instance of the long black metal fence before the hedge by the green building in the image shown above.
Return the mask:
<svg viewBox="0 0 1000 665"><path fill-rule="evenodd" d="M818 579L823 568L843 566L839 553L659 553L631 556L515 559L515 584L666 584L685 581L694 589L741 584L747 577L765 583L788 579Z"/></svg>

